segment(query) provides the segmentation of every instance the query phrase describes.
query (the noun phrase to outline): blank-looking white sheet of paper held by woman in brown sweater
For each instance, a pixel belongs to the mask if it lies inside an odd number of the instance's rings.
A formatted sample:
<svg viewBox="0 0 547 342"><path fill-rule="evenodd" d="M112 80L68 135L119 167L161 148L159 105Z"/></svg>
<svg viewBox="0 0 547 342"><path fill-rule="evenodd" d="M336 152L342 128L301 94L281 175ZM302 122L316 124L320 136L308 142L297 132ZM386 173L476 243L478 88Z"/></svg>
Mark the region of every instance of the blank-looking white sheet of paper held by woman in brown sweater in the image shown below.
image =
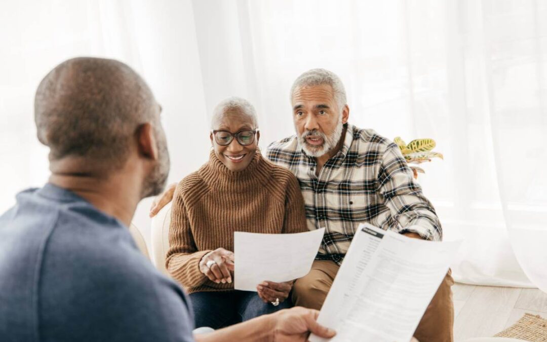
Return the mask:
<svg viewBox="0 0 547 342"><path fill-rule="evenodd" d="M325 229L296 234L234 233L234 288L257 291L263 281L283 282L309 273Z"/></svg>

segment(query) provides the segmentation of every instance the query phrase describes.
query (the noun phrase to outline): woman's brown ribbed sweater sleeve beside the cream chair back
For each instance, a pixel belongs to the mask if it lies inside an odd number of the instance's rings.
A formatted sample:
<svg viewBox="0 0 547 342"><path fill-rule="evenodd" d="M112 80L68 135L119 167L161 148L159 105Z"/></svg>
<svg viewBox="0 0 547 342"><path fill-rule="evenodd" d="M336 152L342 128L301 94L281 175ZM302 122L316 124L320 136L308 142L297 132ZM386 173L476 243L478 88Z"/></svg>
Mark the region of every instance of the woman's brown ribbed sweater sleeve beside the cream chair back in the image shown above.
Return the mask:
<svg viewBox="0 0 547 342"><path fill-rule="evenodd" d="M197 251L191 233L187 207L183 200L183 184L178 184L171 206L171 225L169 227L169 250L166 268L171 276L184 287L202 285L207 277L201 273L199 263L210 250Z"/></svg>

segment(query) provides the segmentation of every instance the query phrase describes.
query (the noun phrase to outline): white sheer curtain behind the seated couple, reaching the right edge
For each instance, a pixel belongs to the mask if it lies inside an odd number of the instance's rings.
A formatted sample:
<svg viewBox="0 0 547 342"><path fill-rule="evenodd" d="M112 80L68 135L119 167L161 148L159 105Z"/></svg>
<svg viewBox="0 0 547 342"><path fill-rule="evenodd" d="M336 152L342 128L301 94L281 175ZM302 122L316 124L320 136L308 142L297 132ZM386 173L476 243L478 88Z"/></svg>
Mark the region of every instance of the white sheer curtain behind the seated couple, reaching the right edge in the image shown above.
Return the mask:
<svg viewBox="0 0 547 342"><path fill-rule="evenodd" d="M208 113L225 96L248 97L264 147L293 134L294 78L331 69L346 85L351 123L437 141L445 160L424 165L420 182L445 238L465 239L456 280L532 286L522 269L539 279L545 271L531 267L547 260L545 5L196 0Z"/></svg>

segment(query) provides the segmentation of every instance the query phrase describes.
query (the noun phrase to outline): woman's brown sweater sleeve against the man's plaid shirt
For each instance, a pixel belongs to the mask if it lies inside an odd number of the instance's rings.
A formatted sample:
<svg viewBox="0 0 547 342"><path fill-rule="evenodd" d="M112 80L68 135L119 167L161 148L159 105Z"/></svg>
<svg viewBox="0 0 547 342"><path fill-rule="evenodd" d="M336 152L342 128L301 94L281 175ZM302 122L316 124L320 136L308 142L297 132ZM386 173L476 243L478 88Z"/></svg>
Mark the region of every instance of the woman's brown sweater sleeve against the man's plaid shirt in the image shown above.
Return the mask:
<svg viewBox="0 0 547 342"><path fill-rule="evenodd" d="M302 198L298 179L290 173L287 182L285 219L282 232L302 233L303 231L307 231L304 198Z"/></svg>

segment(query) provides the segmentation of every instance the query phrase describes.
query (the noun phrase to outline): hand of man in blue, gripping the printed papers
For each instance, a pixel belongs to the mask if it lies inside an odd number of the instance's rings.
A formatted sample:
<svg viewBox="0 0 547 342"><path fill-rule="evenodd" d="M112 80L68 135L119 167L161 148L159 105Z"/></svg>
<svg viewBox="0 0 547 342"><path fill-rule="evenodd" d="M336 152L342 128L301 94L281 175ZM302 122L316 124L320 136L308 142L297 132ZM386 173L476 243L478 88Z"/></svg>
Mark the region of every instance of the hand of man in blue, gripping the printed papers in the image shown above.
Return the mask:
<svg viewBox="0 0 547 342"><path fill-rule="evenodd" d="M310 332L319 337L331 338L336 332L317 323L319 311L313 309L296 308L277 311L274 315L275 342L307 341Z"/></svg>

